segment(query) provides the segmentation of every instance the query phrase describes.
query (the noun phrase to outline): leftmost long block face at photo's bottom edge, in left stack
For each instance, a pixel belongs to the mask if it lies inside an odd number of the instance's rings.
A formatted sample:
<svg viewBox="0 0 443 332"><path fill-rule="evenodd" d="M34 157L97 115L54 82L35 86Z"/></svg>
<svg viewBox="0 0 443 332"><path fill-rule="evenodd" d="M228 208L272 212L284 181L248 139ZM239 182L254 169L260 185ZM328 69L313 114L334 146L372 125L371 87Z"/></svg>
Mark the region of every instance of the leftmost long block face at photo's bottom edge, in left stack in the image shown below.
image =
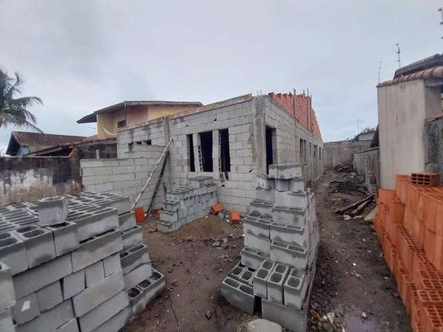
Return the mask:
<svg viewBox="0 0 443 332"><path fill-rule="evenodd" d="M58 329L60 326L73 319L74 313L70 299L55 306L51 310L42 313L30 322L16 326L17 332L48 332Z"/></svg>

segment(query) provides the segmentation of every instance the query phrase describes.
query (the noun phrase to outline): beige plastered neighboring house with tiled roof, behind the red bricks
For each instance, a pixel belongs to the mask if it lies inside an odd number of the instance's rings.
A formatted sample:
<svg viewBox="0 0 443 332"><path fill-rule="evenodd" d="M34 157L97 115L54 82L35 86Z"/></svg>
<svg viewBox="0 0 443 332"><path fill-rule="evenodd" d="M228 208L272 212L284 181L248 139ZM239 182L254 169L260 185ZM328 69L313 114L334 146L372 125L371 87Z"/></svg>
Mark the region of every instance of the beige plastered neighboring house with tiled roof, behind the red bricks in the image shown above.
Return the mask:
<svg viewBox="0 0 443 332"><path fill-rule="evenodd" d="M443 55L399 68L377 85L381 188L396 174L443 173Z"/></svg>

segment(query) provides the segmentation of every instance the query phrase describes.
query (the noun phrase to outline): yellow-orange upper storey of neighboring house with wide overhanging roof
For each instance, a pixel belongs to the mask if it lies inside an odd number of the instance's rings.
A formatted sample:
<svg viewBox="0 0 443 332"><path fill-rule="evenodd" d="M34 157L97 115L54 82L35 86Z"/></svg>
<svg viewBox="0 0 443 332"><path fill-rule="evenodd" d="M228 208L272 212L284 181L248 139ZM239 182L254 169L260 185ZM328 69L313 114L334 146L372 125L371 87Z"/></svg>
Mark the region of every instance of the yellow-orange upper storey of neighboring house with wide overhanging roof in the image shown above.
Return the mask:
<svg viewBox="0 0 443 332"><path fill-rule="evenodd" d="M201 102L125 101L99 109L77 123L97 122L97 138L110 138L116 137L119 130L138 127L147 121L200 106Z"/></svg>

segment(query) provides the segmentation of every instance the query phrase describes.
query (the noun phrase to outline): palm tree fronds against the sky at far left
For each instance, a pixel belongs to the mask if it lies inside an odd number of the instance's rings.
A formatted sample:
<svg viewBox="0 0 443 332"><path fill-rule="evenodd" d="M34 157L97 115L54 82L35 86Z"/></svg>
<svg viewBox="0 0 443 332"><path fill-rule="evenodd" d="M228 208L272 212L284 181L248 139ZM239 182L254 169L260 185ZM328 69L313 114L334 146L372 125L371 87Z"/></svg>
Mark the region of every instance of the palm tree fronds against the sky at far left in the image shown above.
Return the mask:
<svg viewBox="0 0 443 332"><path fill-rule="evenodd" d="M0 69L0 128L13 124L42 133L43 131L35 126L37 119L28 111L28 108L35 104L43 104L42 100L38 97L14 98L21 93L19 87L22 84L23 80L19 73L15 73L13 78Z"/></svg>

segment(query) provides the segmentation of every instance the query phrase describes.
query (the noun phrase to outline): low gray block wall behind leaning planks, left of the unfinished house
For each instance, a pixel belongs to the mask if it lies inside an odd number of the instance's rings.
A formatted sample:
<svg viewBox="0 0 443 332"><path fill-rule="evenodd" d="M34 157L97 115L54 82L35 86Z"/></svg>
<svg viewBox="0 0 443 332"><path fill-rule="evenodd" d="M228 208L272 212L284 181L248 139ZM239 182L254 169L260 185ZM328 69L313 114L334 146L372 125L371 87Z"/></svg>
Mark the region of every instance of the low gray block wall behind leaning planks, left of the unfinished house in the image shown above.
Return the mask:
<svg viewBox="0 0 443 332"><path fill-rule="evenodd" d="M120 151L120 156L125 158L80 160L84 191L129 196L134 201L143 189L164 148L156 145L134 144L132 151ZM167 161L163 173L163 183L168 183L168 165L169 161ZM150 205L160 172L161 166L156 169L154 178L152 178L138 206L147 208ZM164 199L165 186L160 185L154 206L158 207Z"/></svg>

